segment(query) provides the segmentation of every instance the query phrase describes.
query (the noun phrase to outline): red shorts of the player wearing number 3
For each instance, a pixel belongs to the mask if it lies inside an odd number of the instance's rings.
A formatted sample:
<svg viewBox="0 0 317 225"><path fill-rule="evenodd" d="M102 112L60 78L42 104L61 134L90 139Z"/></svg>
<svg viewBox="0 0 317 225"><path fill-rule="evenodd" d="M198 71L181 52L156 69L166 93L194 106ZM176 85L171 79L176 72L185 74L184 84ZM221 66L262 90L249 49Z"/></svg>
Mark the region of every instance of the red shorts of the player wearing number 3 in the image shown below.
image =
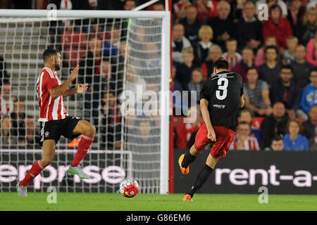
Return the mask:
<svg viewBox="0 0 317 225"><path fill-rule="evenodd" d="M205 123L200 124L197 131L194 147L196 150L203 150L209 143L212 143L210 154L213 158L225 157L228 149L235 138L235 131L227 127L213 126L216 133L216 141L207 138L208 130Z"/></svg>

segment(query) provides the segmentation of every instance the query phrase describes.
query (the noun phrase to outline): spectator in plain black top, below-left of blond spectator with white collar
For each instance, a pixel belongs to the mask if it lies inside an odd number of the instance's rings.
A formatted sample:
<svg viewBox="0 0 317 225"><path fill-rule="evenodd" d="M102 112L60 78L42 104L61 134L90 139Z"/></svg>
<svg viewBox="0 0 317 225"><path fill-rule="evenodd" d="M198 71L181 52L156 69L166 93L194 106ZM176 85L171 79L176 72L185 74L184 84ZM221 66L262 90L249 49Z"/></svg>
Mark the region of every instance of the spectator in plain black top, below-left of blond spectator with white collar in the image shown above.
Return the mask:
<svg viewBox="0 0 317 225"><path fill-rule="evenodd" d="M194 51L192 48L184 49L182 51L182 59L184 63L175 63L175 79L178 79L182 84L183 90L188 90L188 83L192 79L192 71L197 68L197 65L194 63Z"/></svg>

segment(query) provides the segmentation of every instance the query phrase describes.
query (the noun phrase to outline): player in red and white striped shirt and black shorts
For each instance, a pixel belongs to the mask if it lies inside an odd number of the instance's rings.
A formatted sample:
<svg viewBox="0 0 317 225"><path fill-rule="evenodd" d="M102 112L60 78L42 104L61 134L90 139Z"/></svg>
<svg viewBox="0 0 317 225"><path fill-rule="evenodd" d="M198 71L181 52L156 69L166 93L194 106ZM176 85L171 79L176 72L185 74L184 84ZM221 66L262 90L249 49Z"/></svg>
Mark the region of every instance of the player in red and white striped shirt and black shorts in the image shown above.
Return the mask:
<svg viewBox="0 0 317 225"><path fill-rule="evenodd" d="M35 179L35 176L40 174L54 160L56 143L58 143L61 135L68 139L74 139L82 134L77 153L68 172L77 174L81 179L89 178L80 167L80 162L85 158L94 141L96 129L94 125L86 120L68 116L63 103L63 97L83 94L87 91L88 84L77 84L75 88L68 89L78 75L79 66L77 65L68 79L61 83L61 79L56 72L62 66L61 53L54 49L46 49L42 57L44 68L37 78L37 97L39 99L39 122L43 154L42 159L35 162L25 178L18 182L17 191L19 196L27 196L27 186L30 181Z"/></svg>

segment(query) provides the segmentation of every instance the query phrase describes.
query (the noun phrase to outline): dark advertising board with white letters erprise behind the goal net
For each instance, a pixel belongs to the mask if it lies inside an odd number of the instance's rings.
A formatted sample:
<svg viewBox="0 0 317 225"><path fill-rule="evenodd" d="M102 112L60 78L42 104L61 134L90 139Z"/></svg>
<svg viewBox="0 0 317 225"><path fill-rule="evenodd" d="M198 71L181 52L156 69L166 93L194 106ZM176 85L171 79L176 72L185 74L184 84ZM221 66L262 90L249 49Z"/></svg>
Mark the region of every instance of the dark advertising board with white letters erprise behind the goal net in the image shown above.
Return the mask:
<svg viewBox="0 0 317 225"><path fill-rule="evenodd" d="M54 161L35 177L28 191L46 191L54 186L57 191L67 192L108 192L115 193L125 177L132 176L132 154L119 150L89 150L82 163L91 179L81 180L78 176L68 175L68 166L75 152L56 150ZM17 179L22 180L33 162L41 158L41 150L13 151L0 150L0 192L16 191Z"/></svg>

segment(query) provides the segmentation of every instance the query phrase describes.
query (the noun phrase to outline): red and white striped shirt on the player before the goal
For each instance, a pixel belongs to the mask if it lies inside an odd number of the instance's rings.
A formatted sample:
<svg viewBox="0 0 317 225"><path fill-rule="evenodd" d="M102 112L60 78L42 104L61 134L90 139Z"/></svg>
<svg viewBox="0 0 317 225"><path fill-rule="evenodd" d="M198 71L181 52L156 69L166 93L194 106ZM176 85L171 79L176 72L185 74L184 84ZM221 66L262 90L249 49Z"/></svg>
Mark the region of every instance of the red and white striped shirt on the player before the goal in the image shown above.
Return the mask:
<svg viewBox="0 0 317 225"><path fill-rule="evenodd" d="M39 98L39 121L62 120L68 116L63 96L52 98L49 90L61 85L57 72L50 68L43 68L37 77L37 98Z"/></svg>

